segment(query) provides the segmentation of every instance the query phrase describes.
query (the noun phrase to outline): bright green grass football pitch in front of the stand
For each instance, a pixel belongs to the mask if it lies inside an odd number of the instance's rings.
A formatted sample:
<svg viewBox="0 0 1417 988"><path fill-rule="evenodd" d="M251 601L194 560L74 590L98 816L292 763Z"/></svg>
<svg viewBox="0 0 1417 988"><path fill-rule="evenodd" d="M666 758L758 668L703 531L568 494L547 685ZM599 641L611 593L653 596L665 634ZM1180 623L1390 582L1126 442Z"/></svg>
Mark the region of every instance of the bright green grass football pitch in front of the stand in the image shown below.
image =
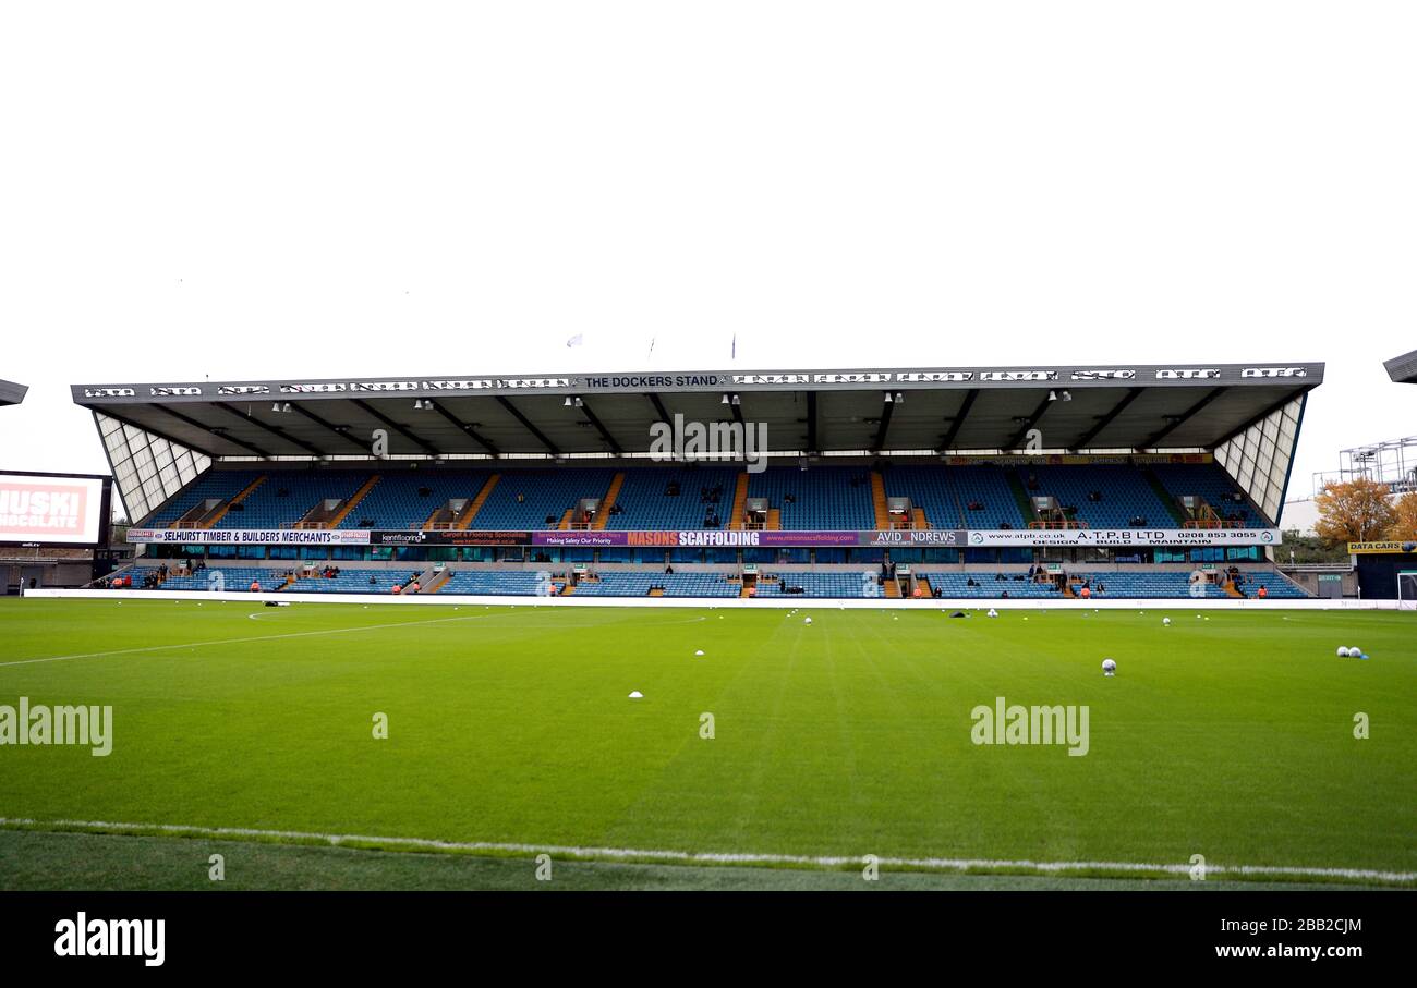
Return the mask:
<svg viewBox="0 0 1417 988"><path fill-rule="evenodd" d="M0 739L20 698L98 705L112 750L0 746L0 888L188 888L211 846L251 848L242 888L520 888L538 854L565 888L839 888L867 856L1121 886L1196 855L1217 886L1413 885L1417 616L1179 604L4 600ZM1000 705L1085 708L1085 753L976 743Z"/></svg>

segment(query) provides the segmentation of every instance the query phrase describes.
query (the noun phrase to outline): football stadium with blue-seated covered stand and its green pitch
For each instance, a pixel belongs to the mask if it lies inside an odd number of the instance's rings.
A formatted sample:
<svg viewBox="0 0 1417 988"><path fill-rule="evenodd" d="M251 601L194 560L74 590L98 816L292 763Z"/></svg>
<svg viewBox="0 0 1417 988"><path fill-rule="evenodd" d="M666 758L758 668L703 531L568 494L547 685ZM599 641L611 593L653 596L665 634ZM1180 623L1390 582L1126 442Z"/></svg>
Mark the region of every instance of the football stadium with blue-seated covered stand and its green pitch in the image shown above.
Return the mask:
<svg viewBox="0 0 1417 988"><path fill-rule="evenodd" d="M4 602L6 873L1411 886L1414 617L1275 566L1322 381L75 385L136 556Z"/></svg>

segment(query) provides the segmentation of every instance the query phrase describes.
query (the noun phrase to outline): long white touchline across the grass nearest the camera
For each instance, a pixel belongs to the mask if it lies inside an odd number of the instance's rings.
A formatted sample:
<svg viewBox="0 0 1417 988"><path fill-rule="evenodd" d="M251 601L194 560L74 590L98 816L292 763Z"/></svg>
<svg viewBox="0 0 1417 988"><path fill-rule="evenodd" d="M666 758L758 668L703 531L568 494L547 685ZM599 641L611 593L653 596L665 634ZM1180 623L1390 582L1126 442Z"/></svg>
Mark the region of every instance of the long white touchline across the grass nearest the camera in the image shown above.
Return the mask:
<svg viewBox="0 0 1417 988"><path fill-rule="evenodd" d="M811 856L788 854L751 852L691 852L657 851L643 848L580 848L553 844L496 844L492 841L435 841L421 837L366 837L360 834L316 834L306 831L271 831L247 827L190 827L183 824L116 824L98 820L28 820L0 817L0 829L45 829L52 832L160 832L176 837L204 837L210 839L283 839L320 842L330 846L344 844L374 844L390 848L410 848L441 852L493 852L493 854L550 854L581 861L663 861L682 865L799 865L805 868L842 868L860 865L863 858ZM986 858L877 858L887 868L915 871L992 871L992 872L1037 872L1056 875L1077 871L1107 872L1162 872L1168 875L1189 875L1192 865L1169 863L1148 865L1134 861L996 861ZM1206 865L1206 876L1213 875L1270 875L1285 878L1340 878L1372 882L1417 882L1417 872L1383 872L1360 868L1294 868L1267 865Z"/></svg>

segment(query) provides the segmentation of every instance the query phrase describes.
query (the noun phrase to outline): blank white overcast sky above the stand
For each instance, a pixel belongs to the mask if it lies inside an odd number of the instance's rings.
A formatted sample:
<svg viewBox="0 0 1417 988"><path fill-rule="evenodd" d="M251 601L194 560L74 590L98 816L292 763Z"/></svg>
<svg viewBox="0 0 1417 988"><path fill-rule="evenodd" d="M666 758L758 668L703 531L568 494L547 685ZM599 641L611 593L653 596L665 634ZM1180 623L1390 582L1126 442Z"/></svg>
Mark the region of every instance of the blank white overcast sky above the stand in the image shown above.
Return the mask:
<svg viewBox="0 0 1417 988"><path fill-rule="evenodd" d="M1417 433L1382 368L1414 50L1410 1L3 4L0 469L106 471L71 384L737 334L744 369L1325 361L1306 494Z"/></svg>

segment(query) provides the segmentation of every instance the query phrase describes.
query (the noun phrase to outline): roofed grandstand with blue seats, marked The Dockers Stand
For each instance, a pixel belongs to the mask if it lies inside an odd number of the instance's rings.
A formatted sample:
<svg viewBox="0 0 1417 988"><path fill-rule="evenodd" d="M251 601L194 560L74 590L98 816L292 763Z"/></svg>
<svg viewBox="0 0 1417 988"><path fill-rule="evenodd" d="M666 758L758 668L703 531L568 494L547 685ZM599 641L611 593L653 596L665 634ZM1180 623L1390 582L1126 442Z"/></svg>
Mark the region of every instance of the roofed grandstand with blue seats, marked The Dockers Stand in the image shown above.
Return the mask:
<svg viewBox="0 0 1417 988"><path fill-rule="evenodd" d="M1322 375L718 371L74 398L139 519L137 587L203 590L220 572L288 596L1284 599L1302 592L1271 552ZM761 426L767 460L666 459L652 426L680 420Z"/></svg>

